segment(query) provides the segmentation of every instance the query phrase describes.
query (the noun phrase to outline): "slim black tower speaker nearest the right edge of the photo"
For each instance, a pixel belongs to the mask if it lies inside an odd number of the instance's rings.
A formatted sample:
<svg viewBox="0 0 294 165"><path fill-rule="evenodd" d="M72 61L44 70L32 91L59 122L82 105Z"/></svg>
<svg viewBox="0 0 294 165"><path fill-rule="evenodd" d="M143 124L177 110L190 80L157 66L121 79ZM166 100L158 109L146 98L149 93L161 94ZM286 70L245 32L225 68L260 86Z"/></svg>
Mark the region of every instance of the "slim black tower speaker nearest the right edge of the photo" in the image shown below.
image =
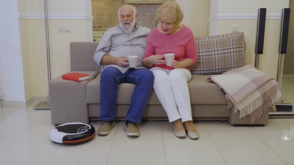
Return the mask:
<svg viewBox="0 0 294 165"><path fill-rule="evenodd" d="M290 8L283 8L281 13L279 54L287 54Z"/></svg>

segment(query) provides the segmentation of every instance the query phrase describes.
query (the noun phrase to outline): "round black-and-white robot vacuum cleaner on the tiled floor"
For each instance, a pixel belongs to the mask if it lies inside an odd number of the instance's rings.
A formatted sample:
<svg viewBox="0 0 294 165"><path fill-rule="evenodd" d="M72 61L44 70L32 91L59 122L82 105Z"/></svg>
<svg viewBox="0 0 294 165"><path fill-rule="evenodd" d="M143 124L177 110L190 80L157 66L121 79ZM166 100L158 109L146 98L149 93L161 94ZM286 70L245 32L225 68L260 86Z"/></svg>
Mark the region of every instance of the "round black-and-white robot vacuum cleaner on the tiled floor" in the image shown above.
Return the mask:
<svg viewBox="0 0 294 165"><path fill-rule="evenodd" d="M76 145L92 140L95 134L95 128L91 124L74 122L53 128L50 132L50 139L58 144Z"/></svg>

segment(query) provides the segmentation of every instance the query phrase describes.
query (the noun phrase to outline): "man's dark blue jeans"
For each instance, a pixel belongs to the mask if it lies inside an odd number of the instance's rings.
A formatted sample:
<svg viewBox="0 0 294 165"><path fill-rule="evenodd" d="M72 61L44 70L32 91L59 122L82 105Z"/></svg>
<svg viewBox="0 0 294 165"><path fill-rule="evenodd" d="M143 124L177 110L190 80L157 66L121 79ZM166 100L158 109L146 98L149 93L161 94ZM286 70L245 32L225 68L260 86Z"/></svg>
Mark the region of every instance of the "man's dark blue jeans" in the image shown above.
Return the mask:
<svg viewBox="0 0 294 165"><path fill-rule="evenodd" d="M118 84L133 83L136 86L126 120L140 123L153 87L153 81L153 73L147 69L130 68L123 74L115 67L104 68L100 81L100 120L112 121L115 119Z"/></svg>

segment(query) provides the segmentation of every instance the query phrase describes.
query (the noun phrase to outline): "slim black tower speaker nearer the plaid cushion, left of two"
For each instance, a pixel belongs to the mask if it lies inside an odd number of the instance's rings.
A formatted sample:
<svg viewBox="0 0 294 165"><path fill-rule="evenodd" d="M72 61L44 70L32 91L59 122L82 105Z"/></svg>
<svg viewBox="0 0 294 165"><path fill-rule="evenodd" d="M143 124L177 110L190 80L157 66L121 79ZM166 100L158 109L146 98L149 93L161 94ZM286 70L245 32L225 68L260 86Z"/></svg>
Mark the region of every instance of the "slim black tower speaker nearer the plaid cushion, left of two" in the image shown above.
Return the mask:
<svg viewBox="0 0 294 165"><path fill-rule="evenodd" d="M267 8L258 9L255 54L263 54Z"/></svg>

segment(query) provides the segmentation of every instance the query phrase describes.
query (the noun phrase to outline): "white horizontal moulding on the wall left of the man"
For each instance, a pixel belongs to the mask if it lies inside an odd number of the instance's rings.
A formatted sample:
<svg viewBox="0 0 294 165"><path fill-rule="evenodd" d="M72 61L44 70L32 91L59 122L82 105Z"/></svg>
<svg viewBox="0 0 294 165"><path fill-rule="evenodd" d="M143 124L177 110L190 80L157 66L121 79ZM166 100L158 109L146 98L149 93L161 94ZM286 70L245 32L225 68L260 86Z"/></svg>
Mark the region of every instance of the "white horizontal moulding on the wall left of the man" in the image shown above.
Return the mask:
<svg viewBox="0 0 294 165"><path fill-rule="evenodd" d="M27 14L19 12L21 19L44 19L44 14ZM90 14L48 14L48 19L88 19L93 20Z"/></svg>

